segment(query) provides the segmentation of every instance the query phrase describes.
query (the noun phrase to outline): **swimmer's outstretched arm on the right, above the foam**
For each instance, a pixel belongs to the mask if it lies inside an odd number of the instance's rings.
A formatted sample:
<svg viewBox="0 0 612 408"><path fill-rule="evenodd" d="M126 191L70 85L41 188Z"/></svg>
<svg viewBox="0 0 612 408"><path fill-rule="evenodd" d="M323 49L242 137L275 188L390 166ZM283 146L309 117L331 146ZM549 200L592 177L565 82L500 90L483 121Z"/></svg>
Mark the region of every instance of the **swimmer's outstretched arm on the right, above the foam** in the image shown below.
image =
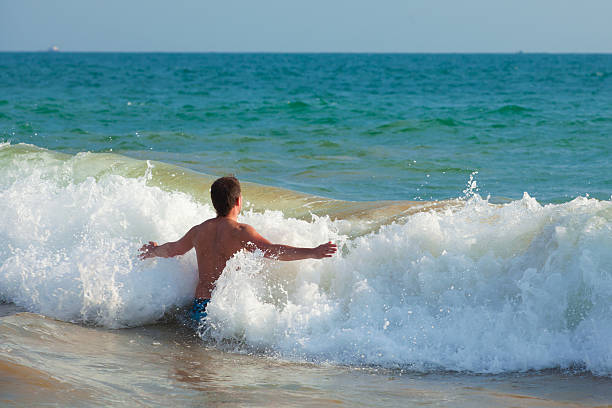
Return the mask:
<svg viewBox="0 0 612 408"><path fill-rule="evenodd" d="M333 244L331 241L315 248L298 248L289 245L273 244L262 237L250 225L245 225L243 245L249 251L259 249L266 258L274 258L281 261L329 258L338 250L336 244Z"/></svg>

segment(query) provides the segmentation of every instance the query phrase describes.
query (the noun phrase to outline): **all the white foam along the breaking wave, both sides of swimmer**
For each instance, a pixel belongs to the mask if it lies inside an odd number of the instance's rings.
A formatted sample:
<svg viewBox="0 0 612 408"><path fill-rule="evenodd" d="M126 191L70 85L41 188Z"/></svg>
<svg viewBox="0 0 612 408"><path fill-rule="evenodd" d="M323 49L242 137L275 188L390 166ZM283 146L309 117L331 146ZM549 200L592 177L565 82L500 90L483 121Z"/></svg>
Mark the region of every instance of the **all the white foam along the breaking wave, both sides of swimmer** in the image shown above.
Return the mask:
<svg viewBox="0 0 612 408"><path fill-rule="evenodd" d="M179 238L213 216L209 206L146 177L74 177L92 158L28 157L0 163L2 299L107 327L189 302L193 253L143 262L137 248ZM237 254L209 305L207 341L346 364L612 373L609 201L542 206L526 194L495 206L473 195L354 239L340 234L347 221L326 217L241 220L272 241L332 239L341 251L288 263Z"/></svg>

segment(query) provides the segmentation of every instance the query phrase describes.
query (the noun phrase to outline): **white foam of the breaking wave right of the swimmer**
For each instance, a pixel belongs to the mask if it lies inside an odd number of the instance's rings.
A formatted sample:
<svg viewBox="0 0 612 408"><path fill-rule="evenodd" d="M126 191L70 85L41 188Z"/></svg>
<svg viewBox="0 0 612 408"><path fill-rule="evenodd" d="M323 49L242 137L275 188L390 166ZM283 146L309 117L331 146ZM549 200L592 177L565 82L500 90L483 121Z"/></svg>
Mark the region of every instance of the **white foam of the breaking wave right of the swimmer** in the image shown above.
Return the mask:
<svg viewBox="0 0 612 408"><path fill-rule="evenodd" d="M609 374L610 248L610 202L474 196L347 242L335 259L296 263L280 288L284 266L239 254L206 336L347 364Z"/></svg>

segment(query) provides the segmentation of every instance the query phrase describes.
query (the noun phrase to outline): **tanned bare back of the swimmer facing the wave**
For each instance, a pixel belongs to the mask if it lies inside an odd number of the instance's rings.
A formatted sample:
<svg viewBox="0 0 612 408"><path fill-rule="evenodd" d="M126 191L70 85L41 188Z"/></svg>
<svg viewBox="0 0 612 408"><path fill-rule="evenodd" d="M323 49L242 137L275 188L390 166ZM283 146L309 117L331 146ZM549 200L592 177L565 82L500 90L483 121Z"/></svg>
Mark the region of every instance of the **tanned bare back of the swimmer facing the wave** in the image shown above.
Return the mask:
<svg viewBox="0 0 612 408"><path fill-rule="evenodd" d="M225 217L211 218L195 228L193 246L199 271L196 297L210 298L227 261L245 248L244 230L244 224Z"/></svg>

